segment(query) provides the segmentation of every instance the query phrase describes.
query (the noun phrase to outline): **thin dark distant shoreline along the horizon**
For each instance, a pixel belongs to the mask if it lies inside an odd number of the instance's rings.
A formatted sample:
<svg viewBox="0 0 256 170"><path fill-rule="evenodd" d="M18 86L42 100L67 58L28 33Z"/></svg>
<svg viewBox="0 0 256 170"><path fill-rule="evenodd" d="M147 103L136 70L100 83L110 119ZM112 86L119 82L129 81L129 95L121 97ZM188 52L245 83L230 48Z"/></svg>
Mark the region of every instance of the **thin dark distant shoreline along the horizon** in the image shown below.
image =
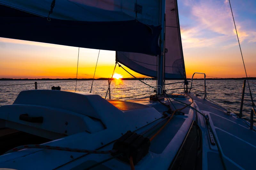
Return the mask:
<svg viewBox="0 0 256 170"><path fill-rule="evenodd" d="M144 80L144 79L150 79L150 77L145 77L145 78L137 78L139 80ZM136 78L121 78L121 80L137 80ZM152 78L152 80L156 80L156 78ZM187 78L188 80L191 80L191 78ZM246 78L242 77L242 78L206 78L206 80L227 80L227 79L230 79L230 80L244 80ZM58 80L58 81L67 81L67 80L70 80L70 81L76 81L75 78L68 78L68 79L49 79L49 78L43 78L43 79L12 79L12 78L0 78L0 81L49 81L49 80ZM98 79L92 79L92 78L89 78L89 79L77 79L78 81L79 80L108 80L108 78L98 78ZM115 80L115 78L112 78L112 80ZM165 80L183 80L183 79L165 79ZM204 80L203 78L195 78L193 80ZM256 77L248 77L248 80L256 80Z"/></svg>

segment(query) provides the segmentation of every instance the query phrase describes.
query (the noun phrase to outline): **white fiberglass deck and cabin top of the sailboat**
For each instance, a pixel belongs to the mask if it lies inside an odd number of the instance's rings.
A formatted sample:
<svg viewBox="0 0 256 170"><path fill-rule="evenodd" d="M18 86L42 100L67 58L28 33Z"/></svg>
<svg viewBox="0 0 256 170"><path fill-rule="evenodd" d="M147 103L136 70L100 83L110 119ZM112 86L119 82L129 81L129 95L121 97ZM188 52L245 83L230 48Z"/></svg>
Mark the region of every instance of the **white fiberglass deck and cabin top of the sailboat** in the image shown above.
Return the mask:
<svg viewBox="0 0 256 170"><path fill-rule="evenodd" d="M39 110L40 108L48 108L51 111L52 117L55 117L54 120L56 122L59 121L57 117L62 116L65 119L69 117L67 115L73 115L78 120L82 118L84 122L81 122L80 126L84 127L85 130L78 131L77 133L74 131L67 134L66 137L61 137L46 144L68 148L111 150L115 140L126 131L131 130L138 134L144 133L150 127L161 122L164 119L162 116L163 112L168 110L164 104L158 101L150 102L149 98L131 100L129 102L115 100L108 100L107 102L98 97L98 95L80 92L30 90L25 92L25 94L23 97L33 96L33 100L30 101L32 105L29 105L28 101L20 101L19 99L14 105L0 107L2 125L15 129L15 124L22 124L22 130L27 132L33 130L32 132L37 135L42 133L40 128L44 129L47 127L47 132L51 131L52 128L52 133L56 134L59 134L57 133L58 131L65 131L65 128L67 128L59 127L59 129L54 129L54 124L48 121L49 117L45 117L45 124L42 127L36 125L36 128L39 129L38 131L35 128L29 129L29 126L32 126L33 123L24 123L22 121L19 122L15 118L12 119L12 112L8 112L8 107L12 108L11 111L13 111L14 115L20 114L20 108L22 108L23 112L26 111L26 108L30 107ZM51 94L54 97L59 97L52 98ZM194 123L198 124L202 134L201 137L196 137L201 138L201 142L196 143L198 150L202 151L201 161L196 160L196 155L190 158L191 161L201 162L201 165L197 168L224 169L226 167L227 169L250 169L253 167L255 162L253 153L256 153L255 132L248 129L249 126L244 120L236 118L235 115L228 116L220 107L196 96L190 96L194 99L191 107L209 116L210 125L217 139L215 143L220 145L220 149L218 150L217 145L211 143L208 126L204 117L194 109L186 107L181 110L180 114L174 115L164 129L151 141L149 153L140 160L135 169L168 169L172 167L173 160L176 160L177 153L179 153L180 147L183 145L192 127L191 124ZM46 103L43 100L45 98L49 99ZM54 103L57 99L58 102ZM189 96L184 98L176 97L175 99L187 104L192 102ZM69 106L63 105L63 102L66 105L69 104ZM184 104L173 100L172 105L166 98L162 102L169 104L172 110L184 107ZM18 110L15 110L15 106L17 106ZM34 116L44 115L42 112L29 110ZM54 110L58 110L58 112ZM63 117L65 114L66 116ZM4 115L6 116L4 117ZM63 124L65 123L64 120L61 121ZM72 120L69 121L72 123ZM91 121L94 121L94 123ZM55 125L58 126L58 124ZM94 126L100 126L100 128L97 128L97 131L95 131L93 130ZM72 125L69 128L70 130L75 129ZM49 134L52 133L49 132ZM150 138L152 133L144 133L144 136ZM223 155L224 164L221 162L219 153ZM16 169L86 169L109 158L112 158L112 155L47 149L24 149L0 156L0 167ZM130 165L119 159L111 159L101 163L97 168L130 169Z"/></svg>

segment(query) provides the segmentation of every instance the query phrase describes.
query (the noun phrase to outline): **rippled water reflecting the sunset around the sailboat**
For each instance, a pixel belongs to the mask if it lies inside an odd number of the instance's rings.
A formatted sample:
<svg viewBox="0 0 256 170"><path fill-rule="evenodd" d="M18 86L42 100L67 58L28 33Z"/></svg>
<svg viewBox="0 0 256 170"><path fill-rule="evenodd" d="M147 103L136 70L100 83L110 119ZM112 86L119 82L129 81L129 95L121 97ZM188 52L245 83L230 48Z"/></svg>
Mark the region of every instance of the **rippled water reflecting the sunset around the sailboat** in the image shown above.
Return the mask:
<svg viewBox="0 0 256 170"><path fill-rule="evenodd" d="M156 86L155 80L143 80L150 84L151 86ZM34 83L35 81L0 81L0 85L9 85L9 84L27 84ZM49 82L49 83L47 83ZM179 80L167 80L165 83L179 82ZM203 80L195 80L194 82L198 84L204 84ZM256 80L250 80L251 90L254 101L256 101ZM37 81L38 89L51 89L52 86L60 86L62 90L79 90L89 92L91 89L92 81L77 81L77 85L75 81L71 82L56 82L56 81ZM242 86L243 81L236 80L206 80L207 92L209 97L220 103L221 105L230 108L236 113L239 112L240 102L242 96ZM183 85L172 84L166 85L165 89L176 89L182 88ZM190 85L189 85L190 87ZM119 99L123 97L122 100L134 99L145 97L153 94L153 89L141 83L138 80L115 80L111 83L111 99ZM193 84L194 89L204 90L203 86ZM15 98L18 96L19 92L22 90L35 89L34 84L28 85L17 85L17 86L0 86L0 106L5 104L12 104ZM93 82L92 92L98 93L100 96L105 97L106 91L108 89L108 81L96 80ZM219 90L221 92L225 92L223 94L219 91L215 91L213 89ZM167 93L179 93L183 92L183 89L176 90L168 90ZM200 91L191 90L191 92L201 95L203 97L204 94ZM151 93L151 94L150 94ZM227 95L230 94L230 95ZM133 96L133 97L132 97ZM108 98L108 97L107 97ZM245 119L249 119L249 114L252 108L252 104L250 101L248 85L246 84L245 89L245 101L243 107L243 114L245 115Z"/></svg>

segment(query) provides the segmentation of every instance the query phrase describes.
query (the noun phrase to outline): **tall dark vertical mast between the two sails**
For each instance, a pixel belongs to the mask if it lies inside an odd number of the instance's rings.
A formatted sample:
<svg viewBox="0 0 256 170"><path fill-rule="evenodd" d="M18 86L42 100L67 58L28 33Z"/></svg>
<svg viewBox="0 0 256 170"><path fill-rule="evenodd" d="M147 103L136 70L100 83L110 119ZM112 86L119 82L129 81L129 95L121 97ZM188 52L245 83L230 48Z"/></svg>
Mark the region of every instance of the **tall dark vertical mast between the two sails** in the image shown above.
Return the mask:
<svg viewBox="0 0 256 170"><path fill-rule="evenodd" d="M164 31L165 31L165 0L161 1L161 36L160 47L161 54L157 60L157 95L163 94L164 88Z"/></svg>

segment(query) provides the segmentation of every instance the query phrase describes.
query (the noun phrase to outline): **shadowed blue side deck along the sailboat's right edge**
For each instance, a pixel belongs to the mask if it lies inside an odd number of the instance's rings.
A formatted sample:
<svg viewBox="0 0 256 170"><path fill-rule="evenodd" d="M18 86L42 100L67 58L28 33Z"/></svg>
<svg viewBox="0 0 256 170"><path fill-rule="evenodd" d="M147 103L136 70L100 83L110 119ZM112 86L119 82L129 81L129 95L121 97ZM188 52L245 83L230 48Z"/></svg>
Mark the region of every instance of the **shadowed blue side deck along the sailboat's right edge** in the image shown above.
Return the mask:
<svg viewBox="0 0 256 170"><path fill-rule="evenodd" d="M229 116L219 106L196 96L191 97L201 112L209 116L223 153L224 166L227 169L251 169L256 161L256 132L250 130L248 123L235 114ZM209 151L205 156L208 169L224 169L218 152Z"/></svg>

